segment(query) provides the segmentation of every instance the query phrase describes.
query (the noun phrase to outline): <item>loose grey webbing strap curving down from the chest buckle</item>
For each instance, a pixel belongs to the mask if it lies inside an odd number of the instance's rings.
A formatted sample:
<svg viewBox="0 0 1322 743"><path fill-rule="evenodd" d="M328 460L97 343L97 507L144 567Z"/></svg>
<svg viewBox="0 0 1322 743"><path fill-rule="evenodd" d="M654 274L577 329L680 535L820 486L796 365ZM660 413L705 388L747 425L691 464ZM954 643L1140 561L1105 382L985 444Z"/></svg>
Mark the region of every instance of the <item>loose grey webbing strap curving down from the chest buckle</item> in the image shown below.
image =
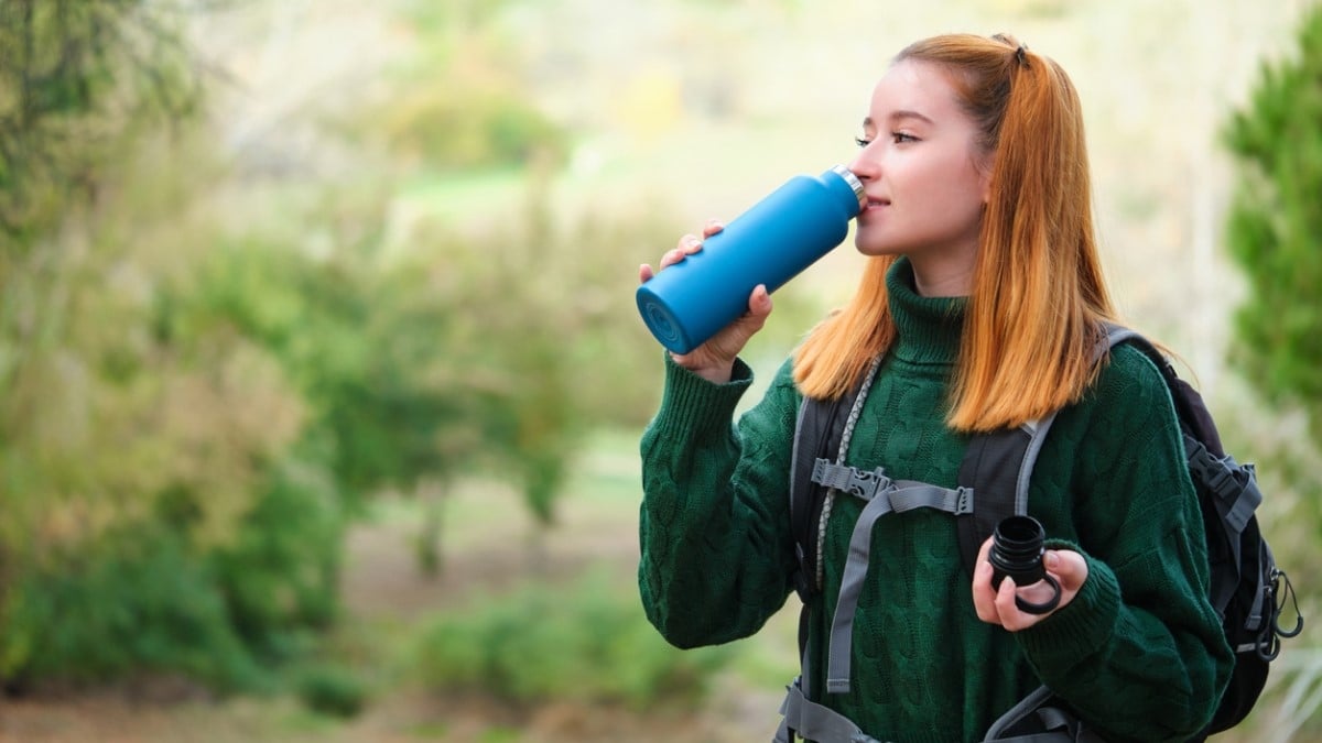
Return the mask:
<svg viewBox="0 0 1322 743"><path fill-rule="evenodd" d="M826 649L826 691L847 694L851 672L850 649L854 643L854 613L858 611L858 596L867 579L867 566L873 551L873 526L887 513L903 513L916 508L937 508L954 514L973 512L973 490L970 488L941 488L927 483L910 480L892 481L867 501L863 512L854 522L854 533L849 538L849 559L841 576L839 598L836 600L836 615L832 617L830 640Z"/></svg>

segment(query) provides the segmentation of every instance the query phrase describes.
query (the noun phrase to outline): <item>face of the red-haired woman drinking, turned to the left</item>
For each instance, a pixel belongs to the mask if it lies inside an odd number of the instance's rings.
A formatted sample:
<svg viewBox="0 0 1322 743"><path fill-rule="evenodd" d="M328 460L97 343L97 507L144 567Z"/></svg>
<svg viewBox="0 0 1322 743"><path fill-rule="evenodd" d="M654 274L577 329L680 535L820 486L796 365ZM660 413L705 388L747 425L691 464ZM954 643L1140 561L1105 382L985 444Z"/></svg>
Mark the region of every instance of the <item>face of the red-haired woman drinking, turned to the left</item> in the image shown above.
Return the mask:
<svg viewBox="0 0 1322 743"><path fill-rule="evenodd" d="M945 70L894 65L873 91L862 152L850 164L867 192L854 237L859 253L903 254L916 270L972 275L990 180L980 136Z"/></svg>

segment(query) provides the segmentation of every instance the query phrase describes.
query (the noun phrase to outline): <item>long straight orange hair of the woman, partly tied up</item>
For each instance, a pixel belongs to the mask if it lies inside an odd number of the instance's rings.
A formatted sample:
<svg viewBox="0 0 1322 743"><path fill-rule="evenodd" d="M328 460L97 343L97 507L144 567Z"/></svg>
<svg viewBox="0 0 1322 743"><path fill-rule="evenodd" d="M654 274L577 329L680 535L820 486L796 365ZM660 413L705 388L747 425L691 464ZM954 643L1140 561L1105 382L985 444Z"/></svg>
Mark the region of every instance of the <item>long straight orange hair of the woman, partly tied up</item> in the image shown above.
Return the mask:
<svg viewBox="0 0 1322 743"><path fill-rule="evenodd" d="M993 153L990 198L951 390L949 426L1019 426L1077 401L1096 375L1099 324L1114 320L1092 223L1079 97L1054 61L995 36L939 36L896 56L943 66ZM795 353L809 397L843 395L895 340L886 272L870 258L858 291Z"/></svg>

